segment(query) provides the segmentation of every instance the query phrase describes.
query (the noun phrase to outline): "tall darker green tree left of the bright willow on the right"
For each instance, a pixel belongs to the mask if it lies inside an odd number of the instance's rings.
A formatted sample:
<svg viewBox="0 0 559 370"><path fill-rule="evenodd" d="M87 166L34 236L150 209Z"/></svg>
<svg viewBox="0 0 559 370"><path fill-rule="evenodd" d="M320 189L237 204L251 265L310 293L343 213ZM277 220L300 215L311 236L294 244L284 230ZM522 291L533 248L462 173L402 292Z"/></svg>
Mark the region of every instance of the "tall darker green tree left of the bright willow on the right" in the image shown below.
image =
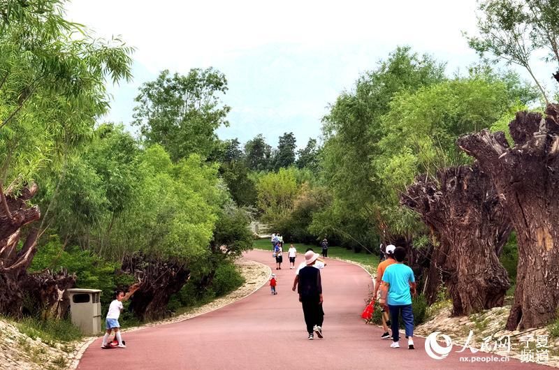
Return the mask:
<svg viewBox="0 0 559 370"><path fill-rule="evenodd" d="M389 229L386 215L379 211L384 193L372 161L384 135L381 117L399 91L414 91L442 80L443 64L421 57L409 47L398 47L374 71L362 75L352 91L341 94L324 117L321 168L334 202L323 219L335 220L340 225L337 235L348 242L376 244L375 234L393 241L391 235L396 232ZM328 225L314 223L313 227L319 230Z"/></svg>

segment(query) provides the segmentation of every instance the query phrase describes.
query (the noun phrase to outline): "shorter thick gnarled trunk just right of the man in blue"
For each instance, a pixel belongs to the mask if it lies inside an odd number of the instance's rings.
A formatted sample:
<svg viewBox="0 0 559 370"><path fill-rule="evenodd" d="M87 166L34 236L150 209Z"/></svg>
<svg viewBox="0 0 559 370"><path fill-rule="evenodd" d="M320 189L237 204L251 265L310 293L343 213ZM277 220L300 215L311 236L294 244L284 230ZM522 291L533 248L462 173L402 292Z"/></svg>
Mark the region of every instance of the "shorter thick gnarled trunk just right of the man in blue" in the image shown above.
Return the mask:
<svg viewBox="0 0 559 370"><path fill-rule="evenodd" d="M442 278L454 315L502 306L510 283L496 251L512 228L491 179L476 165L445 168L437 179L440 184L418 177L401 196L440 239L431 255L428 300Z"/></svg>

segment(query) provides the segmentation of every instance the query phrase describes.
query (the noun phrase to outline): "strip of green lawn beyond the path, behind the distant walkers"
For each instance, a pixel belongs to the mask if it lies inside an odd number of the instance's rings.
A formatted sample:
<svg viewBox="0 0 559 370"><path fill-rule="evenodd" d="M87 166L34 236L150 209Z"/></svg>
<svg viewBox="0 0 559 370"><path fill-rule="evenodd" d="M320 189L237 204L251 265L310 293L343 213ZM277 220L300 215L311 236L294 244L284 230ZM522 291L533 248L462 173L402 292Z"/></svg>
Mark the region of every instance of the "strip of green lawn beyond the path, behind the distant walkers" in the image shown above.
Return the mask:
<svg viewBox="0 0 559 370"><path fill-rule="evenodd" d="M297 249L297 260L296 265L303 261L303 254L307 250L307 248L312 248L313 251L320 253L322 251L320 246L311 245L311 244L300 244L300 243L293 243L293 246ZM264 251L270 251L270 260L272 259L272 243L269 239L258 239L255 240L252 244L252 248L254 249L262 249ZM289 244L284 244L284 253L287 252L289 249ZM328 246L328 257L340 258L342 260L350 260L352 262L357 262L365 267L367 267L370 273L377 271L377 266L379 265L379 256L367 253L366 251L361 252L354 252L341 246ZM289 259L284 258L285 262L289 263Z"/></svg>

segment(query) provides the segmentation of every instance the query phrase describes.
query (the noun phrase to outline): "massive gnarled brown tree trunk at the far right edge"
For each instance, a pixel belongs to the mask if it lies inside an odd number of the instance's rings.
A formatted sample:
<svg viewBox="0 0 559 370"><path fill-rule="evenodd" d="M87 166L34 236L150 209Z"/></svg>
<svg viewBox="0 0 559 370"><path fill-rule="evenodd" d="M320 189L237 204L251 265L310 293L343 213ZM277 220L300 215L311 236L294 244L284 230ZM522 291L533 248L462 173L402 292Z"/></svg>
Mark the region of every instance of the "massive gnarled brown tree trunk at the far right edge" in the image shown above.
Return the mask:
<svg viewBox="0 0 559 370"><path fill-rule="evenodd" d="M504 133L465 135L458 145L491 175L518 238L514 303L507 329L548 323L559 307L559 105L546 117L518 112Z"/></svg>

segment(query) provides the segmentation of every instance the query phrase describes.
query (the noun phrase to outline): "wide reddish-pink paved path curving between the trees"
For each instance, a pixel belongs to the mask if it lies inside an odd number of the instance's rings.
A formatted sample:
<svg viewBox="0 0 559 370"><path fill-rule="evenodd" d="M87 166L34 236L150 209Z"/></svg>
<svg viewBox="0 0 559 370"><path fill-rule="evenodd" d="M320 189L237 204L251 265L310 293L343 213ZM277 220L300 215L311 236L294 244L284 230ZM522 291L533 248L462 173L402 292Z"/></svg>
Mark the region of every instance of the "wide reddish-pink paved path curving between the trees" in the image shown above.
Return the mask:
<svg viewBox="0 0 559 370"><path fill-rule="evenodd" d="M421 338L415 340L416 350L389 348L391 341L379 339L382 329L365 325L359 316L372 287L370 276L361 267L330 259L321 272L324 339L309 341L291 291L294 270L284 263L286 268L276 271L271 252L251 251L247 258L272 267L279 279L277 295L270 295L266 285L182 323L124 332L126 349L101 350L98 339L78 369L542 369L516 360L467 364L454 350L444 360L432 360Z"/></svg>

